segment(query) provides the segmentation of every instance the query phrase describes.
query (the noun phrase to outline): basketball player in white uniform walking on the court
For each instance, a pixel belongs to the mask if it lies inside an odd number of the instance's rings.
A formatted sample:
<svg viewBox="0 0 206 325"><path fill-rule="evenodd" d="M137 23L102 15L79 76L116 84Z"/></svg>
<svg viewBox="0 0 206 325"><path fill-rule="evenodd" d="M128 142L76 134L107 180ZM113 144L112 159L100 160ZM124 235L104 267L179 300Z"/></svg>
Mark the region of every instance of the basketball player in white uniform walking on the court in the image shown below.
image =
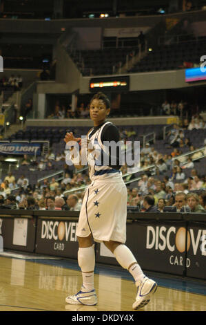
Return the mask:
<svg viewBox="0 0 206 325"><path fill-rule="evenodd" d="M116 164L112 163L110 151L109 163L97 164L96 151L92 151L99 147L102 155L106 149L105 141L119 142L118 129L106 120L109 113L110 100L107 96L103 93L94 95L90 102L90 118L94 122L94 127L87 133L87 163L92 183L85 192L76 230L79 241L78 263L82 272L83 285L79 293L68 296L65 301L68 304L97 304L94 290L94 240L103 242L119 264L134 277L137 295L132 307L138 309L150 301L150 296L155 292L157 285L152 279L145 277L134 255L125 245L127 188L120 171L119 157L116 157ZM80 138L74 138L70 132L66 133L64 140L68 143L79 141ZM74 165L77 168L81 167L81 162Z"/></svg>

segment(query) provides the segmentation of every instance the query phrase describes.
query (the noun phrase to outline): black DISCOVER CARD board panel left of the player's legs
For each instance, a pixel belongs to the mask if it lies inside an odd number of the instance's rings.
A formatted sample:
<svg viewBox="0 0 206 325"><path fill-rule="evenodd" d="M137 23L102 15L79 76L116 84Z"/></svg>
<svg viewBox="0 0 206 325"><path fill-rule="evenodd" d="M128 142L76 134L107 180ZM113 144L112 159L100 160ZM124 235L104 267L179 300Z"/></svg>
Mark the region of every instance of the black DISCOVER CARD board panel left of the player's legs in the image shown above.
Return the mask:
<svg viewBox="0 0 206 325"><path fill-rule="evenodd" d="M77 259L76 225L68 218L39 217L36 252Z"/></svg>

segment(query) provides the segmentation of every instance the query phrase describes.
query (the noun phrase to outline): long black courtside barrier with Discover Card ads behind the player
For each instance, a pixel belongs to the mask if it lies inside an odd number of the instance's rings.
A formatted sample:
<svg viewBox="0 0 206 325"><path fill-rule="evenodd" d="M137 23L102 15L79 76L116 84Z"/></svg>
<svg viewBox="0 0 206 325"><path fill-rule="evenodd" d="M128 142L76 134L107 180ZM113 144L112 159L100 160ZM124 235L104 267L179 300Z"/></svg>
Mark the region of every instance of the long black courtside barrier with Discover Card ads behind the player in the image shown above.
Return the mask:
<svg viewBox="0 0 206 325"><path fill-rule="evenodd" d="M4 250L77 259L79 212L0 210ZM128 213L126 245L143 270L206 279L206 214ZM118 266L103 243L96 262Z"/></svg>

